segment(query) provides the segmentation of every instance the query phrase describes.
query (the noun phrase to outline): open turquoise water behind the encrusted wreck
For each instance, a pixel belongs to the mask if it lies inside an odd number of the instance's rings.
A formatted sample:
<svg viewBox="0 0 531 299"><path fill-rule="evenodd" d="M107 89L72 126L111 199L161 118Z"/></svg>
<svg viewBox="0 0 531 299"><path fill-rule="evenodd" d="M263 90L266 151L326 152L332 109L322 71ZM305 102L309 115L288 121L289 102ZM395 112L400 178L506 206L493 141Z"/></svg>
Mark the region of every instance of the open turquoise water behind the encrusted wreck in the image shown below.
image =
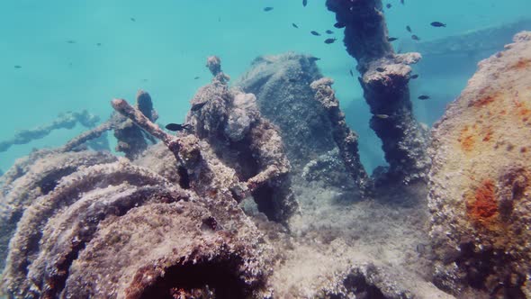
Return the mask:
<svg viewBox="0 0 531 299"><path fill-rule="evenodd" d="M390 35L399 41L409 39L406 25L423 41L436 40L514 22L528 17L531 8L529 0L387 3L392 4L386 10ZM266 6L274 10L264 12ZM204 68L207 56L220 56L224 71L235 79L258 55L293 50L319 57L323 75L335 79L349 124L361 136L365 166L384 163L379 140L368 126L361 88L348 74L354 69L356 75L355 60L339 42L342 32L332 27L334 14L324 0L309 0L307 7L299 0L4 0L0 16L0 140L16 130L52 122L61 112L87 109L105 119L112 112L113 97L133 100L139 88L154 98L160 122L181 122L188 100L210 81ZM433 28L433 21L448 26ZM328 29L338 42L323 43ZM312 36L311 30L323 36ZM442 115L482 58L473 57L455 73L439 74L433 67L443 66L445 58L419 64L421 77L412 82L412 95L432 95L430 101L414 101L421 122L432 124ZM428 62L430 68L423 68ZM61 145L83 130L54 131L42 140L14 146L0 153L0 168L6 170L33 148Z"/></svg>

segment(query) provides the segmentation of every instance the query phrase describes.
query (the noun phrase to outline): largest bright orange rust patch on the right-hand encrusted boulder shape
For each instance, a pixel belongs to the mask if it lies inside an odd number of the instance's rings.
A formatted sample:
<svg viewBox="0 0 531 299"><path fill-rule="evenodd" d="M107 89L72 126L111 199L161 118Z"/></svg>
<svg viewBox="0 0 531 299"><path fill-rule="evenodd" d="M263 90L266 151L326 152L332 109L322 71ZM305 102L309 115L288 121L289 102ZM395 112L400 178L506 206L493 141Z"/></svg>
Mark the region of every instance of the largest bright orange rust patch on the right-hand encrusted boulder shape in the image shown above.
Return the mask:
<svg viewBox="0 0 531 299"><path fill-rule="evenodd" d="M480 222L489 220L498 213L494 182L490 179L482 182L475 190L472 201L467 204L466 212L473 220Z"/></svg>

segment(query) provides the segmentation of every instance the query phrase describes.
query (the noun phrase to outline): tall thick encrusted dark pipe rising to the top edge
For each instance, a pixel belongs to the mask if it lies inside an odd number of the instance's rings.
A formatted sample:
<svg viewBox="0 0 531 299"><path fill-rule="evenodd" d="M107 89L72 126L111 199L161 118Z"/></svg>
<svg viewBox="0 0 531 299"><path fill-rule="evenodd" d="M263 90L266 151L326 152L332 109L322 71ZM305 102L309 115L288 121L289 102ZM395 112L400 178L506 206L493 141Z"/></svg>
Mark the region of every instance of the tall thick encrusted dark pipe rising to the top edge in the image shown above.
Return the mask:
<svg viewBox="0 0 531 299"><path fill-rule="evenodd" d="M394 53L381 0L327 0L327 7L345 26L347 52L358 62L359 82L374 114L371 128L382 140L390 165L388 176L405 184L424 179L430 165L428 129L413 116L408 87L409 65L420 54Z"/></svg>

